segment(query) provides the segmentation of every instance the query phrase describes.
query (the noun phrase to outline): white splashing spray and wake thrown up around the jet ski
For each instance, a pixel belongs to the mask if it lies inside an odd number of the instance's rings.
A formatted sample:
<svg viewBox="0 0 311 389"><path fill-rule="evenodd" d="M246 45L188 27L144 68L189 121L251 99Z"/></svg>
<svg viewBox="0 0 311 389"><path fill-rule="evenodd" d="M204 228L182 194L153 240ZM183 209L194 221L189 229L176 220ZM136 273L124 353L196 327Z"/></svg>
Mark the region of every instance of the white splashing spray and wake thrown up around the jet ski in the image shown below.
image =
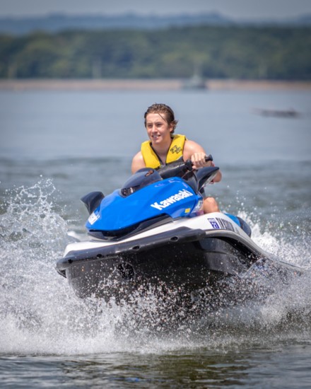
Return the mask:
<svg viewBox="0 0 311 389"><path fill-rule="evenodd" d="M0 349L6 354L93 354L182 347L221 347L241 339L270 334L281 336L297 329L310 332L311 277L305 274L286 288L274 289L264 301L220 308L200 318L184 318L174 331L163 325L174 314L175 298L153 293L117 305L76 298L54 266L70 237L67 223L53 202L51 180L6 192L1 206ZM245 217L246 215L242 215ZM245 217L247 219L247 216ZM252 221L250 221L252 223ZM295 245L260 232L253 224L254 240L267 251L302 263L309 255L305 240ZM299 248L301 250L299 250ZM298 255L300 253L300 256ZM305 262L305 268L310 261ZM234 289L233 289L234 290ZM178 312L179 318L183 312ZM163 331L165 328L165 332ZM280 332L281 329L281 332Z"/></svg>

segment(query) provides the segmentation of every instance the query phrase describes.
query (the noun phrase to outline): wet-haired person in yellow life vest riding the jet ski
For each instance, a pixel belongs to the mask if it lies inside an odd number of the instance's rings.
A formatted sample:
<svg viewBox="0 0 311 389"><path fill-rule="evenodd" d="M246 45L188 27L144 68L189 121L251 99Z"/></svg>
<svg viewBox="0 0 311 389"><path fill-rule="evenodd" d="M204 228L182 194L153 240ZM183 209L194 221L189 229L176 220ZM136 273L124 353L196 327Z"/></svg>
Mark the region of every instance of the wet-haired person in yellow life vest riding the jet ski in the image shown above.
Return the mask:
<svg viewBox="0 0 311 389"><path fill-rule="evenodd" d="M141 151L136 153L131 163L131 173L141 168L158 169L175 161L191 160L194 169L215 166L213 161L206 162L206 152L203 147L190 141L184 135L174 134L177 126L175 115L168 105L153 104L144 115L145 127L149 141L141 144ZM218 170L213 182L221 180ZM204 214L219 212L218 204L213 197L204 196Z"/></svg>

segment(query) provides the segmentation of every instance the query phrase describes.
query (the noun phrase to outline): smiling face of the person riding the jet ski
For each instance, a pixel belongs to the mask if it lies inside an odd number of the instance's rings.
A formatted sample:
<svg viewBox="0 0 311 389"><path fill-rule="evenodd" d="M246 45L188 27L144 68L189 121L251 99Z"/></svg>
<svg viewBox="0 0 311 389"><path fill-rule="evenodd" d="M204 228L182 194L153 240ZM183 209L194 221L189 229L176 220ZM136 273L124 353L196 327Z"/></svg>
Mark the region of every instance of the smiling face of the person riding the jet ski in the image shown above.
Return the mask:
<svg viewBox="0 0 311 389"><path fill-rule="evenodd" d="M170 134L173 125L168 124L164 113L148 113L146 116L146 129L152 144L162 144L171 141Z"/></svg>

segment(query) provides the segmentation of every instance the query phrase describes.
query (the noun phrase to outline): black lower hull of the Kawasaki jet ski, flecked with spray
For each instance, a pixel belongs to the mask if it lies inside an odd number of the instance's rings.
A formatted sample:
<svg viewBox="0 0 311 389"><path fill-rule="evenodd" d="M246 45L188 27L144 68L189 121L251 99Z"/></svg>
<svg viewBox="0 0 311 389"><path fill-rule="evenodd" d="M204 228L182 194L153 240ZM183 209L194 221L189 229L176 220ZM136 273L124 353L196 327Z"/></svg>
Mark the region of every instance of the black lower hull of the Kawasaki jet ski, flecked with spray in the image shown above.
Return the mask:
<svg viewBox="0 0 311 389"><path fill-rule="evenodd" d="M127 296L139 286L165 283L189 291L246 272L262 252L233 233L179 228L127 243L69 252L57 262L79 297ZM122 290L122 294L120 293ZM124 297L123 296L123 297Z"/></svg>

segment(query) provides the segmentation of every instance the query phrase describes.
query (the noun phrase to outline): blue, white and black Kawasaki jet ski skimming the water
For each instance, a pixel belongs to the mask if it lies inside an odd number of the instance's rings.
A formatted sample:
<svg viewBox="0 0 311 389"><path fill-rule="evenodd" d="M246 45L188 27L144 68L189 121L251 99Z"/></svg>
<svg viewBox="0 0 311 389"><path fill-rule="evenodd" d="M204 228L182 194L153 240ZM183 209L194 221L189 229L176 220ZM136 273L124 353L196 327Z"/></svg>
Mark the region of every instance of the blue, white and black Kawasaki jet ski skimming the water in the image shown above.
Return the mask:
<svg viewBox="0 0 311 389"><path fill-rule="evenodd" d="M218 291L225 279L242 279L254 267L265 276L271 269L282 277L297 274L297 268L254 243L244 220L203 214L201 193L218 170L195 170L191 161L178 161L138 170L106 197L86 194L81 200L89 213L90 239L67 245L57 272L78 297L106 301L124 301L159 286L193 300L202 290Z"/></svg>

